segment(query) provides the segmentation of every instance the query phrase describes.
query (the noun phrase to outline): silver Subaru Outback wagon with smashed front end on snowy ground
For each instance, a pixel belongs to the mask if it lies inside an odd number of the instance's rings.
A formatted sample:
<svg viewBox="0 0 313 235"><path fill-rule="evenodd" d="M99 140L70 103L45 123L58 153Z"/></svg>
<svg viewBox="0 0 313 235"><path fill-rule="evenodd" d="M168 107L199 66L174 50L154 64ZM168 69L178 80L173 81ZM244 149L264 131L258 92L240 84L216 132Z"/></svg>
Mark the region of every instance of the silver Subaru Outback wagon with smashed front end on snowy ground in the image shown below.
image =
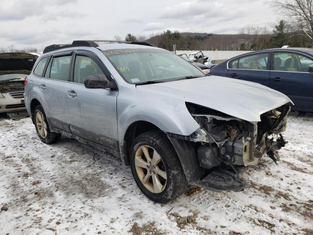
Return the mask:
<svg viewBox="0 0 313 235"><path fill-rule="evenodd" d="M238 173L264 155L276 163L287 143L286 95L208 76L147 43L51 45L25 83L25 105L43 142L63 135L110 152L160 203L188 185L243 190Z"/></svg>

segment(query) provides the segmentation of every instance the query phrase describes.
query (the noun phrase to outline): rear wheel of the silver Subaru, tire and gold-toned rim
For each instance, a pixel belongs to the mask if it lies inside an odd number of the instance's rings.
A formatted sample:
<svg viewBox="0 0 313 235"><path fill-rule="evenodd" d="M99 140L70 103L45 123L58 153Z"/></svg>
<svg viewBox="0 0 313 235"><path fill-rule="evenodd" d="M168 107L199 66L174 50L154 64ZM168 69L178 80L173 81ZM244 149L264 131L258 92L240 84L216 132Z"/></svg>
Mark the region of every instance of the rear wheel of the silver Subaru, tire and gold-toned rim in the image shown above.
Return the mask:
<svg viewBox="0 0 313 235"><path fill-rule="evenodd" d="M45 116L45 111L41 105L37 105L35 107L33 118L37 135L39 136L41 141L47 144L51 144L60 140L61 138L60 133L50 131L50 127Z"/></svg>

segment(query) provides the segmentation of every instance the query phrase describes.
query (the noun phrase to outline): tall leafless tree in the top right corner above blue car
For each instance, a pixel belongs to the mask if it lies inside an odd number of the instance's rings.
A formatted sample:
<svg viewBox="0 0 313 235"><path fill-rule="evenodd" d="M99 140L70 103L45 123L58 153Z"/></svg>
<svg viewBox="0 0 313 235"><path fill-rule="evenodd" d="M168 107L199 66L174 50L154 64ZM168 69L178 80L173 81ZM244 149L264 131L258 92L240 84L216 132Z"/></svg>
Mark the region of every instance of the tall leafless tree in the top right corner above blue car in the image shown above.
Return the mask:
<svg viewBox="0 0 313 235"><path fill-rule="evenodd" d="M294 31L303 32L296 35L305 35L313 43L313 0L271 0L270 3L288 17Z"/></svg>

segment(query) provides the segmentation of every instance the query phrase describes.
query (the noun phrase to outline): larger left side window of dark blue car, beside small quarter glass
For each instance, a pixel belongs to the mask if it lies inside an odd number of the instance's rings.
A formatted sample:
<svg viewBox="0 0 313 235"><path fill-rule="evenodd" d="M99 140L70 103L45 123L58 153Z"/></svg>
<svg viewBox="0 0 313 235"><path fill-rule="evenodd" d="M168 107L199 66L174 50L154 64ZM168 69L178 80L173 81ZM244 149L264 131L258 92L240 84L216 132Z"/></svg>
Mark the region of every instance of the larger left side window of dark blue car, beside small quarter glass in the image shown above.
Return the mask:
<svg viewBox="0 0 313 235"><path fill-rule="evenodd" d="M268 53L259 53L239 58L238 69L267 70Z"/></svg>

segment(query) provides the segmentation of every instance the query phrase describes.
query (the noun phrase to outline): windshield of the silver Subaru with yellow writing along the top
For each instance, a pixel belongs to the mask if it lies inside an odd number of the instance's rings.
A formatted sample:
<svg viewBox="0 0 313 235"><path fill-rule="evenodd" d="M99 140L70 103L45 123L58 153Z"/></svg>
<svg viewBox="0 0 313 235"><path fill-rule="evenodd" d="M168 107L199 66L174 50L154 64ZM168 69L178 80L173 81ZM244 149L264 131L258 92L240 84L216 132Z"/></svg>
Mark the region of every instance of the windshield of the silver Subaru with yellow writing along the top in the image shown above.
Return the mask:
<svg viewBox="0 0 313 235"><path fill-rule="evenodd" d="M124 80L132 84L205 76L198 68L167 50L118 49L103 53Z"/></svg>

